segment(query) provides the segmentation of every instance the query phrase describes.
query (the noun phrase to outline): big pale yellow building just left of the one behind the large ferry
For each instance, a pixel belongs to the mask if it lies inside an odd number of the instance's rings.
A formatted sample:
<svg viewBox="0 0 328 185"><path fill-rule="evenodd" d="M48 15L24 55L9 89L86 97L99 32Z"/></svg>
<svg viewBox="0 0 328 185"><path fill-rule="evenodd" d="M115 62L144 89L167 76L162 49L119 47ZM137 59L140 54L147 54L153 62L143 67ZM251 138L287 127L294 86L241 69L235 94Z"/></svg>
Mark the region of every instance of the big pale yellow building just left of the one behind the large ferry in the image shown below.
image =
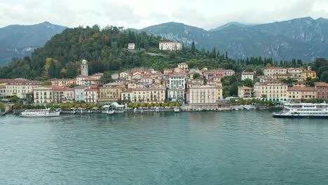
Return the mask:
<svg viewBox="0 0 328 185"><path fill-rule="evenodd" d="M287 85L281 81L266 81L254 85L255 97L266 100L287 100Z"/></svg>

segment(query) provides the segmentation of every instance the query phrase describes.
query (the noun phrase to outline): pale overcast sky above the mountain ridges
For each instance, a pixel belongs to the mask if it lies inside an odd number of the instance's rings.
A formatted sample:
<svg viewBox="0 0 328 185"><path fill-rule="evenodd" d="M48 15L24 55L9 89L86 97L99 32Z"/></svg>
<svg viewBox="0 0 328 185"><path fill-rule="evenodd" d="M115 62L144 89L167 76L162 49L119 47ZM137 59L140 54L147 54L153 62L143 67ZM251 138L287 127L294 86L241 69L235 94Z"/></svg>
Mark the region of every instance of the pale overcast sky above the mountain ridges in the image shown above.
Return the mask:
<svg viewBox="0 0 328 185"><path fill-rule="evenodd" d="M173 21L211 29L232 21L257 24L308 16L328 18L328 0L0 0L0 27L48 21L140 29Z"/></svg>

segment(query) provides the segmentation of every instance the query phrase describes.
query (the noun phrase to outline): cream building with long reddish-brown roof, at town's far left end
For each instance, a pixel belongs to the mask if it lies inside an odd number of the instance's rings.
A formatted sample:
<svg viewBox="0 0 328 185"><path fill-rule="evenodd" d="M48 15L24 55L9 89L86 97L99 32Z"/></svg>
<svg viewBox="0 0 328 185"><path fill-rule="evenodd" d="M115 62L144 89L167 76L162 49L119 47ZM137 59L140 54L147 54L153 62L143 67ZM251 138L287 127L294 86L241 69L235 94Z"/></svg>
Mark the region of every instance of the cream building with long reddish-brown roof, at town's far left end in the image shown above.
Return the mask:
<svg viewBox="0 0 328 185"><path fill-rule="evenodd" d="M41 87L42 82L30 81L24 78L16 78L16 79L2 79L0 83L6 86L4 95L26 98L26 94L33 92L35 88Z"/></svg>

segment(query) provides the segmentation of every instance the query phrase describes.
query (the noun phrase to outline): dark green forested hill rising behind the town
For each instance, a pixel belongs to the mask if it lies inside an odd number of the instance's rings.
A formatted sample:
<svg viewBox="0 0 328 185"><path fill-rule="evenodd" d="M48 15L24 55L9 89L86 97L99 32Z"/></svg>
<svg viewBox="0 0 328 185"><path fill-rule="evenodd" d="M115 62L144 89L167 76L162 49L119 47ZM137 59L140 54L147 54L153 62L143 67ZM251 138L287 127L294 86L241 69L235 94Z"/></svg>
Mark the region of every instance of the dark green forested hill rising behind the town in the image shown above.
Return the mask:
<svg viewBox="0 0 328 185"><path fill-rule="evenodd" d="M164 69L177 67L186 62L189 67L233 69L240 74L247 69L257 70L270 66L301 67L301 60L273 61L271 58L247 57L233 60L228 53L212 50L198 50L195 43L180 51L160 51L158 43L162 38L142 33L124 31L121 27L77 27L65 29L53 36L43 48L34 50L31 57L14 60L0 68L0 78L74 78L80 74L81 60L88 60L89 73L113 73L133 67ZM128 43L135 43L135 50L127 50ZM251 69L251 70L252 70Z"/></svg>

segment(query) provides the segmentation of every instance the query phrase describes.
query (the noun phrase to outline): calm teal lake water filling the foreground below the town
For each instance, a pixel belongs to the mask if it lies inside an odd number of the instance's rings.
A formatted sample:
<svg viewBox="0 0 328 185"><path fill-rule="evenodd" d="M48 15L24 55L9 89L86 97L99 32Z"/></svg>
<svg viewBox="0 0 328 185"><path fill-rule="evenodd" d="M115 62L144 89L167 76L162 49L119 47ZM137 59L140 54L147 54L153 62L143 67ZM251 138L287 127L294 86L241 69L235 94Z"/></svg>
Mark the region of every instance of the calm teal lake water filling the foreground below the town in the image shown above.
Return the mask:
<svg viewBox="0 0 328 185"><path fill-rule="evenodd" d="M0 184L328 184L328 120L9 115L0 117Z"/></svg>

